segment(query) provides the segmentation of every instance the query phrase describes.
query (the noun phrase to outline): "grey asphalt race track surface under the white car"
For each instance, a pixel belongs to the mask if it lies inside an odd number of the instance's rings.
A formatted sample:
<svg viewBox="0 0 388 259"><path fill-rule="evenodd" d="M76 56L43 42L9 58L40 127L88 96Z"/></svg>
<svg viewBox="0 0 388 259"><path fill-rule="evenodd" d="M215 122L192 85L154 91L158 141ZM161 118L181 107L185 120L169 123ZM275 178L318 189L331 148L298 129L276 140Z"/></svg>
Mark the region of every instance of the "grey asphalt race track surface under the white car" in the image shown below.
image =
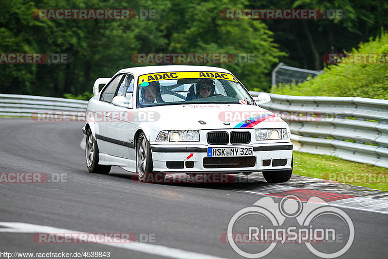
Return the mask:
<svg viewBox="0 0 388 259"><path fill-rule="evenodd" d="M59 183L0 183L0 252L109 251L114 259L242 258L228 243L221 242L220 236L237 211L264 195L237 191L233 184L143 184L118 167L108 175L89 173L80 147L82 126L82 122L0 118L0 173L66 173L68 179ZM243 189L268 186L256 181ZM355 238L341 258L386 258L388 214L342 210L354 224ZM330 225L330 220L323 223ZM285 225L294 226L295 222L290 219ZM48 232L133 233L137 240L141 234L151 234L155 242L121 247L34 242L33 233L43 232L43 226L53 227ZM325 249L330 250L328 244ZM286 243L277 244L265 258L318 257L305 244Z"/></svg>

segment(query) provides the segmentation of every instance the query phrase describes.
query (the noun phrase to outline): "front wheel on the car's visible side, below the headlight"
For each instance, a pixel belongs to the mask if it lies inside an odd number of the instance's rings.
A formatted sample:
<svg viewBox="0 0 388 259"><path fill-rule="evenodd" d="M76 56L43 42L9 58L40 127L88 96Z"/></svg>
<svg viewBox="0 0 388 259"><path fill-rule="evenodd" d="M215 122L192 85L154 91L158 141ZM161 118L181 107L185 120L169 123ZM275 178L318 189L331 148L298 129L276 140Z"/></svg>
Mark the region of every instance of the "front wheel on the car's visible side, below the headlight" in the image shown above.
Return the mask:
<svg viewBox="0 0 388 259"><path fill-rule="evenodd" d="M136 144L136 173L143 183L156 183L164 180L164 174L153 173L152 152L146 135L142 132ZM161 178L162 177L162 178Z"/></svg>

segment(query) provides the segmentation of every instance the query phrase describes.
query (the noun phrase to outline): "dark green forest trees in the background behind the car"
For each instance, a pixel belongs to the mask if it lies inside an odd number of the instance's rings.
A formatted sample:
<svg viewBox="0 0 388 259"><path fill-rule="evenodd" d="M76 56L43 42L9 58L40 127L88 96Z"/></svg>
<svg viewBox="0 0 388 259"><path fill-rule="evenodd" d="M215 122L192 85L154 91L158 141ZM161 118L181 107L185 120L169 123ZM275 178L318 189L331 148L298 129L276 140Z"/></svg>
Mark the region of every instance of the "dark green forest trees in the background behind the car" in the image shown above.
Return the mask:
<svg viewBox="0 0 388 259"><path fill-rule="evenodd" d="M74 58L68 64L1 64L0 92L57 97L91 91L97 78L112 76L122 68L155 65L131 60L133 54L154 52L254 54L254 63L203 65L229 69L248 89L268 91L271 69L278 62L315 69L322 65L320 57L325 52L350 49L388 25L388 3L373 0L266 0L259 6L256 0L2 0L0 8L1 53L68 53ZM61 8L155 9L161 18L32 16L34 9ZM222 9L238 8L342 8L349 16L307 21L220 17Z"/></svg>

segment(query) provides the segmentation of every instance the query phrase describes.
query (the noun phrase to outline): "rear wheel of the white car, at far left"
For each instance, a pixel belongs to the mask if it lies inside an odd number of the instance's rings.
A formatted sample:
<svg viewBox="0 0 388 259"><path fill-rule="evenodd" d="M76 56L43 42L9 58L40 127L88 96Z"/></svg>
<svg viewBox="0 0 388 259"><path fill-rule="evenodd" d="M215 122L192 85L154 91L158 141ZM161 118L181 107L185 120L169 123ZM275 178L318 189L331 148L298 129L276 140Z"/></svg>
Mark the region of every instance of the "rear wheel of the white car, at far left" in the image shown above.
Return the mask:
<svg viewBox="0 0 388 259"><path fill-rule="evenodd" d="M85 143L85 157L86 157L86 166L90 173L101 173L108 174L111 172L112 166L99 165L98 158L98 146L97 141L93 137L92 131L90 128L86 132L86 143Z"/></svg>

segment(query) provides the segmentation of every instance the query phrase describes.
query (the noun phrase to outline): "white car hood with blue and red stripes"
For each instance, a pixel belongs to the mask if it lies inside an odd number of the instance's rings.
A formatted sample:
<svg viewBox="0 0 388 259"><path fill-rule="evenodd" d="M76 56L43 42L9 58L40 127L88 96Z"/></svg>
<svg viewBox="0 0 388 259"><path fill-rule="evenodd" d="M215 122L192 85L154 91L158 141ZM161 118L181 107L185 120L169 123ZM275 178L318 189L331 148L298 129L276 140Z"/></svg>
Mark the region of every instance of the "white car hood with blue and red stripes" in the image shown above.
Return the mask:
<svg viewBox="0 0 388 259"><path fill-rule="evenodd" d="M181 104L142 108L153 113L156 130L279 128L287 123L257 105ZM248 120L248 121L246 121Z"/></svg>

